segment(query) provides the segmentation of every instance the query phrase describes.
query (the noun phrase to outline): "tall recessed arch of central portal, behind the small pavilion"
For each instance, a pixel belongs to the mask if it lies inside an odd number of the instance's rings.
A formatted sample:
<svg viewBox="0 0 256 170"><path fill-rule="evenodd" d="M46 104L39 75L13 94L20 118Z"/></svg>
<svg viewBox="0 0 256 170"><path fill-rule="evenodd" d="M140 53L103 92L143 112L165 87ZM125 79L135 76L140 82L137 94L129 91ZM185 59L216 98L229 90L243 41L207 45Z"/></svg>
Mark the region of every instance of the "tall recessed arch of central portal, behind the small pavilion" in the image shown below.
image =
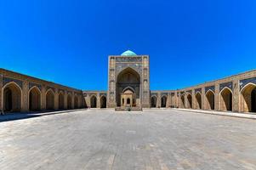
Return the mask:
<svg viewBox="0 0 256 170"><path fill-rule="evenodd" d="M133 97L130 101L131 106L139 106L140 105L140 77L137 71L128 67L121 71L117 76L117 88L116 88L116 102L117 107L122 105L121 96L128 91L133 92Z"/></svg>

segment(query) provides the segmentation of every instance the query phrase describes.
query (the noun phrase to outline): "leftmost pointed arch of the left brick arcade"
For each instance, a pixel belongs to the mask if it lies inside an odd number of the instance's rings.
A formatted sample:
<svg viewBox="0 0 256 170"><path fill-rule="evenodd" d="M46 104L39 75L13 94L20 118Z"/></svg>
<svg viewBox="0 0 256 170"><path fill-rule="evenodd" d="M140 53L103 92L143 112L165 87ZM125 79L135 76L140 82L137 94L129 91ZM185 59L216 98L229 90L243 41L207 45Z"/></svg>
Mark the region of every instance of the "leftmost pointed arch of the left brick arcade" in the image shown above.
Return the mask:
<svg viewBox="0 0 256 170"><path fill-rule="evenodd" d="M3 111L21 111L22 89L16 82L9 82L3 86Z"/></svg>

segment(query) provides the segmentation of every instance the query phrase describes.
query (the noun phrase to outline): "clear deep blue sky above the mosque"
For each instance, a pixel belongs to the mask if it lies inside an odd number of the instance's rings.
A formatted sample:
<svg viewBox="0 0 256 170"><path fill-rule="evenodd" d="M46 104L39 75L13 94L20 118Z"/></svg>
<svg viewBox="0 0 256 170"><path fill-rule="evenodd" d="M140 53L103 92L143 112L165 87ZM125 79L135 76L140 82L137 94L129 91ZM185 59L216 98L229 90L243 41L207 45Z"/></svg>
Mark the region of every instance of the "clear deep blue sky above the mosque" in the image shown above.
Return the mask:
<svg viewBox="0 0 256 170"><path fill-rule="evenodd" d="M107 59L149 54L151 89L256 68L255 0L0 0L0 67L107 89Z"/></svg>

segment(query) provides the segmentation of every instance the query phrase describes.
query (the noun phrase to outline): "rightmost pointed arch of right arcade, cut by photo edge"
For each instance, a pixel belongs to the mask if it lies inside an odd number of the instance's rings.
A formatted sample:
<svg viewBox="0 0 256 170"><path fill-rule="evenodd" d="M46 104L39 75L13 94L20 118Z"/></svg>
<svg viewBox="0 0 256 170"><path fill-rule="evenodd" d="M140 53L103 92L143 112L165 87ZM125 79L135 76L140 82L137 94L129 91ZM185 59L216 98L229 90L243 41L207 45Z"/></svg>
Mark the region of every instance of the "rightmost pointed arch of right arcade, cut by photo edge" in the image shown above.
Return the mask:
<svg viewBox="0 0 256 170"><path fill-rule="evenodd" d="M241 111L256 112L256 84L249 82L241 90Z"/></svg>

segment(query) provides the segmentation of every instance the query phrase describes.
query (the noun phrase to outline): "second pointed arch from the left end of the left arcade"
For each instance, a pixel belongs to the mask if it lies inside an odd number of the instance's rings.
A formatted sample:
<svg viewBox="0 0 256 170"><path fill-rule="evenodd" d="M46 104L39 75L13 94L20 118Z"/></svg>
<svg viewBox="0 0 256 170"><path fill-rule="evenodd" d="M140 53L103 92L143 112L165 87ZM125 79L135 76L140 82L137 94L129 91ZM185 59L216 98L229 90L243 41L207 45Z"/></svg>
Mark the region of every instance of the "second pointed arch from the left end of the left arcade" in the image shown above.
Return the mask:
<svg viewBox="0 0 256 170"><path fill-rule="evenodd" d="M28 92L28 105L29 111L40 111L41 110L41 90L37 86L32 87Z"/></svg>

